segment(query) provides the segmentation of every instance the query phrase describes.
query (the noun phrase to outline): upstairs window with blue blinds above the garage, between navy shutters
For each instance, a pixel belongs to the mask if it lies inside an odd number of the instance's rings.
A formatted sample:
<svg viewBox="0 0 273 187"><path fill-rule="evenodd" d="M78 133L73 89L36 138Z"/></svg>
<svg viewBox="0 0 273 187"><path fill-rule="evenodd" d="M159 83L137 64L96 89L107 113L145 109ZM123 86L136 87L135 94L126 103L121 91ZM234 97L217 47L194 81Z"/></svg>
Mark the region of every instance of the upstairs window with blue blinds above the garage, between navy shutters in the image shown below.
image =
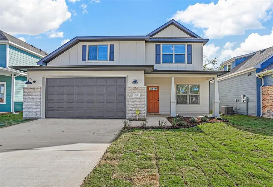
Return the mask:
<svg viewBox="0 0 273 187"><path fill-rule="evenodd" d="M108 45L88 46L88 60L108 60Z"/></svg>

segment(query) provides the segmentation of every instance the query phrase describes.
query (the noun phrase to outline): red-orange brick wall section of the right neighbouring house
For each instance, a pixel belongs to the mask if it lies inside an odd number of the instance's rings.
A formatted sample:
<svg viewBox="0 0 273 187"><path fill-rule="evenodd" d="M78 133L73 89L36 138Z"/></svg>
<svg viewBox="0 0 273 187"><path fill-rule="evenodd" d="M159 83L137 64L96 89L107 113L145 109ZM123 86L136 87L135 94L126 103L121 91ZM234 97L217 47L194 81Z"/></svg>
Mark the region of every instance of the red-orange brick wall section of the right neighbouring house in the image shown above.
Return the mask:
<svg viewBox="0 0 273 187"><path fill-rule="evenodd" d="M262 87L263 117L271 117L273 112L273 85Z"/></svg>

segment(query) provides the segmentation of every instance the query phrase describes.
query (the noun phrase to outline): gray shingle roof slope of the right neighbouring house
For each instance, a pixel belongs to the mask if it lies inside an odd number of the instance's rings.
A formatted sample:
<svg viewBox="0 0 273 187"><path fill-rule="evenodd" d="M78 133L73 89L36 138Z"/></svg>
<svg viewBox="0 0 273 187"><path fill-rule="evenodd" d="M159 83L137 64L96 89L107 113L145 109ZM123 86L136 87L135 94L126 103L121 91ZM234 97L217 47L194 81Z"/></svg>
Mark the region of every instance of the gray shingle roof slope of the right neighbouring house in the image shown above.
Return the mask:
<svg viewBox="0 0 273 187"><path fill-rule="evenodd" d="M261 61L265 60L267 57L269 57L272 54L273 54L273 46L265 49L263 52L261 52L260 50L256 51L254 55L250 56L248 59L246 59L239 65L235 66L234 68L232 68L229 73L221 75L220 77L254 67L255 65L259 64Z"/></svg>

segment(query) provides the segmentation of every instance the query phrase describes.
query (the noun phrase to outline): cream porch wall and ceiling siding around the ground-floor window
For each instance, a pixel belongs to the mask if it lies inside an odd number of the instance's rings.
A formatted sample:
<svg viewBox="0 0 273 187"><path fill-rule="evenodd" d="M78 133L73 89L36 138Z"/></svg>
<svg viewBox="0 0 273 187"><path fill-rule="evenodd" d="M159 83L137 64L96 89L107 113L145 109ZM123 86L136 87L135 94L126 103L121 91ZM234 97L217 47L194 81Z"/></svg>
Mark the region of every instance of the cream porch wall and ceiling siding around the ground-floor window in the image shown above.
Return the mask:
<svg viewBox="0 0 273 187"><path fill-rule="evenodd" d="M175 77L176 84L199 84L200 104L176 104L176 113L209 113L209 82L204 77ZM171 113L171 77L145 77L145 86L159 86L159 112Z"/></svg>

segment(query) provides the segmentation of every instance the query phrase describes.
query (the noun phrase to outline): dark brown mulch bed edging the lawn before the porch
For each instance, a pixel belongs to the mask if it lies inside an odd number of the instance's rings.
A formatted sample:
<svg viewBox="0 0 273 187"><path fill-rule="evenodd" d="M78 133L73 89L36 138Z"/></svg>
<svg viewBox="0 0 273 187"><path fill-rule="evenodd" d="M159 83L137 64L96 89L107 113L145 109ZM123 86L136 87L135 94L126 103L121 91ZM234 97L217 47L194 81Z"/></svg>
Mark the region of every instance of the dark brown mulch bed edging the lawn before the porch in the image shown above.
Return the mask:
<svg viewBox="0 0 273 187"><path fill-rule="evenodd" d="M170 123L172 122L173 117L166 117L166 118ZM208 122L202 122L201 117L196 117L196 118L197 118L197 123L193 123L193 122L191 122L191 117L183 117L182 121L185 121L187 123L185 126L165 126L165 127L159 127L159 126L139 127L139 126L137 126L137 127L128 127L126 129L128 129L128 130L130 130L130 129L181 129L181 128L195 127L195 126L200 125L202 123L228 122L227 119L218 120L214 117L210 117ZM137 121L137 120L132 120L132 121Z"/></svg>

